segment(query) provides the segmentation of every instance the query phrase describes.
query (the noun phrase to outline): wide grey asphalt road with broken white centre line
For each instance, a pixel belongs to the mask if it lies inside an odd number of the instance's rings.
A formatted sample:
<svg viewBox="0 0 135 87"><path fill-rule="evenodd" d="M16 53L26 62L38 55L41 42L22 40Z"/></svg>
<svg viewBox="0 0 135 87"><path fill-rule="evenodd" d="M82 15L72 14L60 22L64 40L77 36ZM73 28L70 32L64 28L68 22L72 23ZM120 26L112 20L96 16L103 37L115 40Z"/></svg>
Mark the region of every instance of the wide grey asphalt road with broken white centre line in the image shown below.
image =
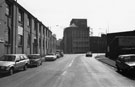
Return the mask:
<svg viewBox="0 0 135 87"><path fill-rule="evenodd" d="M135 87L135 81L94 57L70 54L11 76L1 76L0 87Z"/></svg>

